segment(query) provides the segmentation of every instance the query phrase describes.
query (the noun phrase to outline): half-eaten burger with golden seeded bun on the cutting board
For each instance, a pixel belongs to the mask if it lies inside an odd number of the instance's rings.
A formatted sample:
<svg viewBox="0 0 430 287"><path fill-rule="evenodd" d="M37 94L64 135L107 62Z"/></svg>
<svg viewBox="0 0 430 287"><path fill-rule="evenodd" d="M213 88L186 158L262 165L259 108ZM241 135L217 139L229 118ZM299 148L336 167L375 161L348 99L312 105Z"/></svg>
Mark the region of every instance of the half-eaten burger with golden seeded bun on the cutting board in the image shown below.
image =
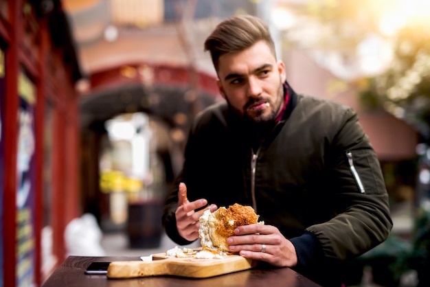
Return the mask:
<svg viewBox="0 0 430 287"><path fill-rule="evenodd" d="M252 207L238 203L228 208L220 207L214 212L205 210L199 218L202 249L229 252L227 238L234 236L234 229L242 225L264 224L258 222L259 217Z"/></svg>

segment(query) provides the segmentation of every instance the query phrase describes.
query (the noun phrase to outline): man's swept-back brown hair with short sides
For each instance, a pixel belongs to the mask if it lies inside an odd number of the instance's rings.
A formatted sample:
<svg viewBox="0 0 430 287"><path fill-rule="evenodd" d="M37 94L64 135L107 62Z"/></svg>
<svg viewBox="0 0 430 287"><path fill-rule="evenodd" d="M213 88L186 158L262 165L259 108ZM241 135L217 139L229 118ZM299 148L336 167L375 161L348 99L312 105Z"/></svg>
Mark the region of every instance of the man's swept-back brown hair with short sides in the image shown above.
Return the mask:
<svg viewBox="0 0 430 287"><path fill-rule="evenodd" d="M269 27L262 19L251 15L231 16L219 23L205 41L205 51L210 51L214 67L218 70L218 60L223 54L242 51L265 41L276 57L275 44Z"/></svg>

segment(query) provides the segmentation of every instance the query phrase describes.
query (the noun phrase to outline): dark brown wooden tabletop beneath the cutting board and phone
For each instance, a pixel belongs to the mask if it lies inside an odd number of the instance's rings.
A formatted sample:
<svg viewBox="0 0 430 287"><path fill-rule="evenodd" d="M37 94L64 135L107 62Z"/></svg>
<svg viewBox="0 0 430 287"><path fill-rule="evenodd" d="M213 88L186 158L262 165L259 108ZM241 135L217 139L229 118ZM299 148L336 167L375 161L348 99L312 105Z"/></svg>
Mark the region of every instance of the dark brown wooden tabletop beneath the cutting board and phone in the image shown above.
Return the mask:
<svg viewBox="0 0 430 287"><path fill-rule="evenodd" d="M139 257L84 257L69 256L47 279L42 287L162 287L162 286L295 286L318 287L310 279L299 275L290 268L252 268L247 271L230 273L205 279L159 276L134 279L108 279L106 275L85 275L84 271L93 261L140 260Z"/></svg>

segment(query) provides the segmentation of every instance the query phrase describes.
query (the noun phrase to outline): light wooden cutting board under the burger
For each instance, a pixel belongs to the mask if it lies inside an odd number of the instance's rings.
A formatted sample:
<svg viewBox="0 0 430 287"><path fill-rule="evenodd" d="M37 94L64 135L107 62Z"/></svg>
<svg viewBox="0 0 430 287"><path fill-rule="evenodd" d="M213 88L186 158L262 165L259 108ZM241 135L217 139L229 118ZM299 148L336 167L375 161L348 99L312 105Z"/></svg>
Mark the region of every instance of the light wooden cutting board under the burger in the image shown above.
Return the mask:
<svg viewBox="0 0 430 287"><path fill-rule="evenodd" d="M161 275L207 278L251 268L251 260L240 255L222 259L169 257L165 253L152 255L152 261L115 261L109 264L107 277L136 278Z"/></svg>

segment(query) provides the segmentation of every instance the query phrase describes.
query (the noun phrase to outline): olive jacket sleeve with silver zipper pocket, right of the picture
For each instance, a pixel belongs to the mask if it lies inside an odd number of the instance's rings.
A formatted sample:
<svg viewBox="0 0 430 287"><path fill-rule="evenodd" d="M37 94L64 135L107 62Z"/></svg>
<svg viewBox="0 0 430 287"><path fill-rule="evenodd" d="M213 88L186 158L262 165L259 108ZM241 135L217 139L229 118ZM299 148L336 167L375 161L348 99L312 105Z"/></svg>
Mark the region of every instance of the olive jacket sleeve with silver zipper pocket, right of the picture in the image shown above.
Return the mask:
<svg viewBox="0 0 430 287"><path fill-rule="evenodd" d="M392 219L381 167L357 114L346 108L338 123L325 155L325 192L333 193L337 215L306 231L317 238L324 257L348 260L386 240Z"/></svg>

